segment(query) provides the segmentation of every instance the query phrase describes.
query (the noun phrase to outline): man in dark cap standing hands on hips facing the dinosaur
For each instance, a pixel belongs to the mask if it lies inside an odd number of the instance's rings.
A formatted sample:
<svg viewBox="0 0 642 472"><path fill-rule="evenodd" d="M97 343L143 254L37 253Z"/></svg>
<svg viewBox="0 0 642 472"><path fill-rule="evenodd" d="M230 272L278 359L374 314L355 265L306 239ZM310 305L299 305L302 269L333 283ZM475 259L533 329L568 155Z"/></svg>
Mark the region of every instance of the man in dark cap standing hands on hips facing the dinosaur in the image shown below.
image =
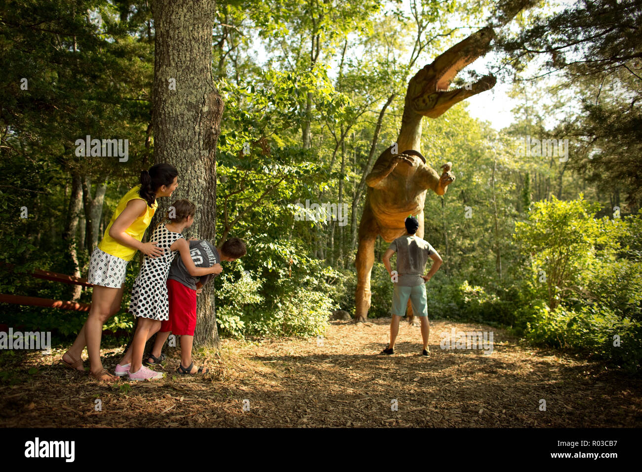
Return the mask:
<svg viewBox="0 0 642 472"><path fill-rule="evenodd" d="M390 344L381 351L381 354L394 354L395 339L399 333L399 320L406 313L406 306L408 299L410 299L413 314L421 320L421 337L424 342L422 354L428 356L430 323L428 321L426 282L437 272L442 264L442 258L428 241L415 236L415 232L419 228L417 218L408 216L404 223L408 232L392 241L382 258L383 265L395 285L392 297L392 320L390 320ZM397 274L392 272L390 265L390 256L395 252L397 253ZM433 259L433 266L430 268L430 272L424 275L429 258Z"/></svg>

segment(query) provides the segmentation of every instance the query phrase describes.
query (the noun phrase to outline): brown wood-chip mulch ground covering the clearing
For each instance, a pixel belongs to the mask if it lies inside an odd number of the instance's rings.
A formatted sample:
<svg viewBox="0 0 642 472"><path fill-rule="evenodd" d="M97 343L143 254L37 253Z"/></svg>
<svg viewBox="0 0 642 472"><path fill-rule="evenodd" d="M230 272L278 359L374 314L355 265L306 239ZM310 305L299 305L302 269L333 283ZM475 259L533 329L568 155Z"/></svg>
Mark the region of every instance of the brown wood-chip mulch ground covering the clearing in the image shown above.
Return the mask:
<svg viewBox="0 0 642 472"><path fill-rule="evenodd" d="M333 321L322 340L223 340L218 354L194 356L211 369L206 376L175 373L180 351L171 348L164 380L116 385L65 369L61 349L2 352L0 427L642 425L642 381L604 363L448 320L431 322L429 357L420 355L419 328L404 321L395 354L376 355L389 323ZM492 354L440 349L451 328L493 331ZM121 354L103 350L105 367L113 371Z"/></svg>

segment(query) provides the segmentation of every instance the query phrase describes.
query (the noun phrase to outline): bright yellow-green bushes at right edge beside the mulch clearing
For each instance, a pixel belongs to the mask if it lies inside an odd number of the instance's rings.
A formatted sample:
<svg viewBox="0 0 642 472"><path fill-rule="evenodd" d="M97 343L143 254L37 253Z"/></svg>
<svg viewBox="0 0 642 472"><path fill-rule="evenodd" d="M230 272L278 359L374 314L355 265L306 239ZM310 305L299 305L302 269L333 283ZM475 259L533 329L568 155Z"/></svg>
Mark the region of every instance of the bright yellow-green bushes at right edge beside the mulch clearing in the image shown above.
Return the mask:
<svg viewBox="0 0 642 472"><path fill-rule="evenodd" d="M538 277L539 267L568 268L557 277L555 308L549 298L549 304L535 302L521 310L520 317L531 342L576 349L636 371L642 359L642 263L635 260L636 250L624 244L639 239L642 217L596 220L591 218L595 210L582 198L553 198L535 204L532 225L517 223L522 249L539 251L531 253L537 261L532 275ZM617 254L633 257L616 259ZM537 281L531 286L535 300L542 290Z"/></svg>

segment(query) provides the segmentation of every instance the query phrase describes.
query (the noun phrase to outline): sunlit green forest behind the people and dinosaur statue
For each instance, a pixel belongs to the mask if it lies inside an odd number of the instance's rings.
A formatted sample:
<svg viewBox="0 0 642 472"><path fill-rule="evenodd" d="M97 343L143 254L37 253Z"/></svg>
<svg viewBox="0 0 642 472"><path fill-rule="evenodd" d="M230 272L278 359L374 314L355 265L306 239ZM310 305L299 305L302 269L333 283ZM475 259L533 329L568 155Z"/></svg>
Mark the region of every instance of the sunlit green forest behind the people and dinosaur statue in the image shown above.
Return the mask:
<svg viewBox="0 0 642 472"><path fill-rule="evenodd" d="M213 77L225 110L216 243L237 236L248 247L214 281L218 332L322 335L331 311L354 315L365 177L396 139L408 80L501 8L217 5ZM536 4L501 30L489 64L512 84L512 123L496 130L466 101L424 120L428 164L452 161L456 175L446 195L426 197L424 239L444 259L428 283L429 317L501 326L534 344L639 369L641 11L634 0ZM154 162L150 5L1 1L0 51L0 260L17 265L0 272L0 293L90 302L90 290L26 274L86 276L119 198ZM480 76L474 68L455 86ZM128 139L126 161L79 157L75 142L87 135ZM568 159L537 146L526 152L527 139L568 139ZM301 206L324 203L345 208L345 219L301 218ZM386 248L379 238L370 317L390 316ZM128 288L139 264L128 268ZM105 327L113 342L132 329L127 302L128 290ZM0 305L1 324L52 331L62 343L85 317Z"/></svg>

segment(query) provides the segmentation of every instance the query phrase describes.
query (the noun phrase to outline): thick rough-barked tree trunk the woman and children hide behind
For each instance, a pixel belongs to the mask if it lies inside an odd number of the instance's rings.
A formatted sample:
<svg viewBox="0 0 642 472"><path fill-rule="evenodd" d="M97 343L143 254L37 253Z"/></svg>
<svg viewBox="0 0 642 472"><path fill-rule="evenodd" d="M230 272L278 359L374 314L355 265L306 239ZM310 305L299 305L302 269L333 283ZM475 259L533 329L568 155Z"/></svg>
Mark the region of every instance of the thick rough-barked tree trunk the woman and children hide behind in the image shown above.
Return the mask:
<svg viewBox="0 0 642 472"><path fill-rule="evenodd" d="M178 189L171 200L187 198L197 206L196 221L186 236L198 235L216 244L216 141L223 114L212 77L216 2L155 0L152 12L154 159L178 169ZM171 205L169 200L159 200L157 214ZM213 283L205 285L198 297L196 314L195 345L218 349Z"/></svg>

